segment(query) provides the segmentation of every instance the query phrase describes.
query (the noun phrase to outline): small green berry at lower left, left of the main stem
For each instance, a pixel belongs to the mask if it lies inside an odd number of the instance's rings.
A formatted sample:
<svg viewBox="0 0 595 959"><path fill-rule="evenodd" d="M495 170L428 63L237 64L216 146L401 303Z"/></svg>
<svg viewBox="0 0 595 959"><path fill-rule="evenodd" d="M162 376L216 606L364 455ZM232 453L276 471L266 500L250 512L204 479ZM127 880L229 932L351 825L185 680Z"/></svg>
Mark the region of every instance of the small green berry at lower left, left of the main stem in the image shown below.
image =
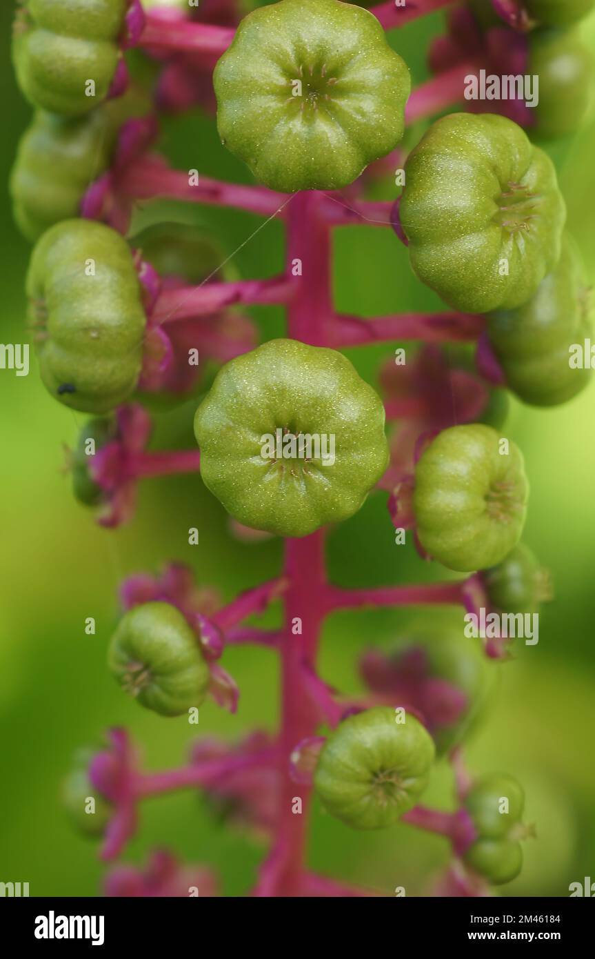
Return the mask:
<svg viewBox="0 0 595 959"><path fill-rule="evenodd" d="M209 667L195 632L167 602L128 610L111 639L107 662L123 690L161 715L200 706L209 686Z"/></svg>

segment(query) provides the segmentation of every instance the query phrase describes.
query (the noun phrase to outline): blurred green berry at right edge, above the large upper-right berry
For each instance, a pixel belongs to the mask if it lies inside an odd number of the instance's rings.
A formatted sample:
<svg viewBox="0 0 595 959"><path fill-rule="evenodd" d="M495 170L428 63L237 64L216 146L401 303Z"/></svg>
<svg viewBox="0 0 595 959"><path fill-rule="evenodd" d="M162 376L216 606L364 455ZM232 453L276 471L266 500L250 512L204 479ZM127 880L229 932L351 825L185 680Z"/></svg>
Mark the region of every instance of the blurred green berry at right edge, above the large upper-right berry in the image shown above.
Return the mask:
<svg viewBox="0 0 595 959"><path fill-rule="evenodd" d="M581 129L595 105L595 61L580 33L536 30L529 38L527 72L539 78L532 131L557 137Z"/></svg>

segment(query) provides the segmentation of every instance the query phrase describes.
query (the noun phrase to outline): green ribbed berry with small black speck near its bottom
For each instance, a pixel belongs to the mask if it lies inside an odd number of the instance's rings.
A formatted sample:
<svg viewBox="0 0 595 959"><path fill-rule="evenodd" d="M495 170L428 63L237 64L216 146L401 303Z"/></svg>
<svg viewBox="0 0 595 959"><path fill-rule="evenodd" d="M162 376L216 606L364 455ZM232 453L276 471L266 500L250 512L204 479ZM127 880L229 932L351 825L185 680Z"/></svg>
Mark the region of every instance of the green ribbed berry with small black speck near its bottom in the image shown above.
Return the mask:
<svg viewBox="0 0 595 959"><path fill-rule="evenodd" d="M89 220L57 223L34 247L27 294L50 393L83 412L123 403L141 372L147 323L123 237Z"/></svg>

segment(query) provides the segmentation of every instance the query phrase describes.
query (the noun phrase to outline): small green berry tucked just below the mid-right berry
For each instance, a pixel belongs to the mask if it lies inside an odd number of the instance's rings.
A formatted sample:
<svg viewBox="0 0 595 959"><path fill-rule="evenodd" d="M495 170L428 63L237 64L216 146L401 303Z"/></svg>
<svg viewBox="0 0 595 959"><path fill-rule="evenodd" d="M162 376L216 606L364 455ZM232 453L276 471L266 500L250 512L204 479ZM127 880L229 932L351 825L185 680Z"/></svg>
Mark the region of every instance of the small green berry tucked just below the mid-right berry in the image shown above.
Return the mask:
<svg viewBox="0 0 595 959"><path fill-rule="evenodd" d="M549 574L524 543L481 578L490 605L504 613L536 613L540 603L550 598Z"/></svg>

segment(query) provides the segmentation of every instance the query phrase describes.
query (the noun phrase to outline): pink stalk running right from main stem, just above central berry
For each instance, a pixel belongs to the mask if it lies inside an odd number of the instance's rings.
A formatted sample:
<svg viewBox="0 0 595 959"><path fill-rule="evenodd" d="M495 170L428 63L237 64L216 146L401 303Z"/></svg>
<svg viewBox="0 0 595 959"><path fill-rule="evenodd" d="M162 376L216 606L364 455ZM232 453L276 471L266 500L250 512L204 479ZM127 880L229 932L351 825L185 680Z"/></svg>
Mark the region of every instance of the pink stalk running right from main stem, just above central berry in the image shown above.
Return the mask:
<svg viewBox="0 0 595 959"><path fill-rule="evenodd" d="M337 316L335 337L340 346L393 339L426 343L475 341L485 327L483 316L465 313L402 313L395 316Z"/></svg>

